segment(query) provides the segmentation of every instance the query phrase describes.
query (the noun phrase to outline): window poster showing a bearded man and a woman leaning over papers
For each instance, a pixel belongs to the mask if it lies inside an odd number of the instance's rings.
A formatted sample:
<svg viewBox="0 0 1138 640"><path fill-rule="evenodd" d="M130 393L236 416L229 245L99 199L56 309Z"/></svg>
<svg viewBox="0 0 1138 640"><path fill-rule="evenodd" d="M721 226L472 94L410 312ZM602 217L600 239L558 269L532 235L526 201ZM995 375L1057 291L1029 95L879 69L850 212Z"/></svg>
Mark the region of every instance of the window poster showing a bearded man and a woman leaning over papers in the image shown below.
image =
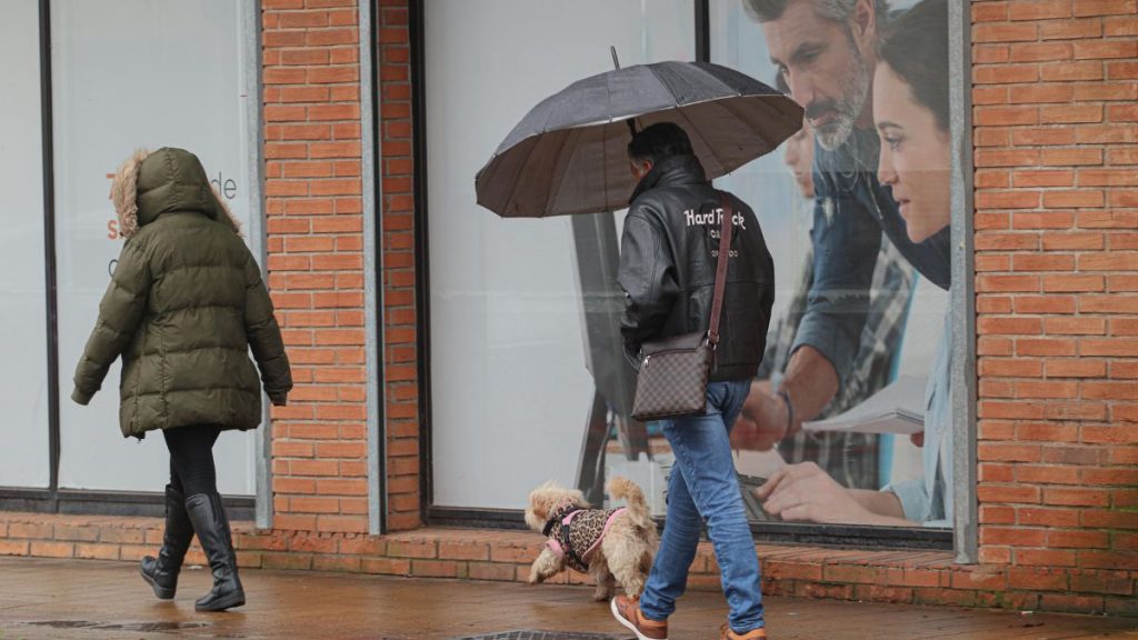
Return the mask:
<svg viewBox="0 0 1138 640"><path fill-rule="evenodd" d="M806 109L717 182L759 213L778 273L732 438L749 514L948 526L947 0L711 6L712 61Z"/></svg>

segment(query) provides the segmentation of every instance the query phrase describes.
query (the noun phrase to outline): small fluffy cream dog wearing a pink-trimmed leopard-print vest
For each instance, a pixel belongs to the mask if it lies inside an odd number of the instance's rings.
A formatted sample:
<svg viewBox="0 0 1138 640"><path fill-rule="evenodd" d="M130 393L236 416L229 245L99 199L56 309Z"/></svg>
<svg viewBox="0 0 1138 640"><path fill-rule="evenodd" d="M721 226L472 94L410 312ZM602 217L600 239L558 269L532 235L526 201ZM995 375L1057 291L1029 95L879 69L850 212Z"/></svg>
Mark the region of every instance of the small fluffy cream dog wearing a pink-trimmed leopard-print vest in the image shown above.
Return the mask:
<svg viewBox="0 0 1138 640"><path fill-rule="evenodd" d="M545 483L529 494L526 523L549 538L529 571L529 583L544 582L568 566L596 581L593 599L612 597L617 582L635 598L644 590L660 543L655 523L636 483L609 482L609 495L628 506L592 509L580 491Z"/></svg>

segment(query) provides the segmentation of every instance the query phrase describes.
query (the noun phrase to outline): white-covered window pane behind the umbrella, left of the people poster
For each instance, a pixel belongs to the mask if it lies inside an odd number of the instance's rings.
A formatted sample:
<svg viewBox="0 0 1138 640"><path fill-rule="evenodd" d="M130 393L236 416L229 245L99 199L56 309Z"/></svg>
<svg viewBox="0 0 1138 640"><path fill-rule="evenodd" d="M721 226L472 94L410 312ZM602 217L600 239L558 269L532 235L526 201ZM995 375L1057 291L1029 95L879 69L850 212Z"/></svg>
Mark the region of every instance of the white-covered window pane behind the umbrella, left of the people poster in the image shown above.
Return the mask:
<svg viewBox="0 0 1138 640"><path fill-rule="evenodd" d="M439 0L426 22L434 503L520 509L550 479L592 492L608 465L662 512L644 438L607 440L605 401L588 429L597 387L627 383L604 374L621 367L612 317L582 295L611 300L619 216L501 220L475 204L475 174L542 98L611 69L610 46L626 66L692 59L694 7Z"/></svg>

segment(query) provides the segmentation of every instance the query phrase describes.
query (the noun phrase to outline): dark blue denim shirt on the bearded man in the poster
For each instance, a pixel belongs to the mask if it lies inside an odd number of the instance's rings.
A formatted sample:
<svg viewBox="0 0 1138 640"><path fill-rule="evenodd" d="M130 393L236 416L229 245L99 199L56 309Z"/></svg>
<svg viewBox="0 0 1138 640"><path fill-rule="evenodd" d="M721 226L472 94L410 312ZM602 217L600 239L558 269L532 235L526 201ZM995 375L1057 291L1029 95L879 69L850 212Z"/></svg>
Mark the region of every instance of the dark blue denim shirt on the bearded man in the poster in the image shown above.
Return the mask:
<svg viewBox="0 0 1138 640"><path fill-rule="evenodd" d="M869 313L882 231L921 274L942 289L950 284L950 229L909 240L892 190L877 181L880 154L872 130L855 129L833 151L815 146L814 285L793 351L810 345L822 352L839 384L853 366Z"/></svg>

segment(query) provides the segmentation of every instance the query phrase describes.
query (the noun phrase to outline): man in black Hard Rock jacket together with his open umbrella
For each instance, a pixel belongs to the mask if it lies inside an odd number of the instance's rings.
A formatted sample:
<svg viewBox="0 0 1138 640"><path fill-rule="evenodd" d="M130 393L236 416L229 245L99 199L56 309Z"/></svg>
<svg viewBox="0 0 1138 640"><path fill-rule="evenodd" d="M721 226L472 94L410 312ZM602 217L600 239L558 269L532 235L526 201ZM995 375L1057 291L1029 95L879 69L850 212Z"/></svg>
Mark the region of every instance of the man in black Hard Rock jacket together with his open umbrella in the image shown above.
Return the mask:
<svg viewBox="0 0 1138 640"><path fill-rule="evenodd" d="M731 604L720 637L766 638L759 563L729 430L762 360L774 263L751 208L710 180L776 149L801 129L803 110L716 64L617 66L530 109L475 177L478 204L503 218L629 206L617 273L625 354L638 360L645 343L715 334L717 343L707 340L717 345L707 393L696 394L706 396L707 409L660 420L676 463L644 593L617 597L611 607L641 640L666 639L706 522ZM636 124L644 128L636 131ZM725 277L717 278L721 241L731 243L729 257ZM710 329L716 309L717 333Z"/></svg>

